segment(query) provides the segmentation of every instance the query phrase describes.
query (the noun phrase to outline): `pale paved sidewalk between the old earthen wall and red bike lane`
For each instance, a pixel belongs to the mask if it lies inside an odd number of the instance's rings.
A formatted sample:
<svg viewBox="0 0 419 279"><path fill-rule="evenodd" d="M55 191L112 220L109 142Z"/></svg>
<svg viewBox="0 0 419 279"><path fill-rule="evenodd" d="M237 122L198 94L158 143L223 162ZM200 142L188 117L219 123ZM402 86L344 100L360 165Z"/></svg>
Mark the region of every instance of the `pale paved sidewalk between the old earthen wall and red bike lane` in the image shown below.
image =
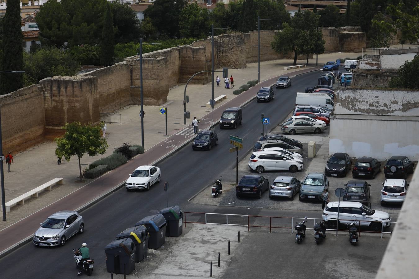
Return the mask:
<svg viewBox="0 0 419 279"><path fill-rule="evenodd" d="M257 85L256 87L253 87L253 89L248 90L247 94L242 93L241 95L233 95L233 90L225 89L222 82L220 82L220 87L217 87L217 84L215 83L215 97L222 94L228 95L228 99L217 104L215 110L224 106L232 106L233 100L238 97L242 100L246 98L251 100L255 94L253 91L257 91L259 86L273 84L273 78L276 78L279 75L292 76L298 73L308 72L320 68L326 61L345 57L356 58L358 55L360 54L322 54L318 56L318 67L315 66L316 59L314 58L309 60L310 64L306 69L288 71L283 70L283 67L291 65L291 59L261 62L261 82L269 81L270 83L265 82L266 84ZM305 63L305 61L298 61L298 64L303 63ZM241 84L246 84L249 80L257 79L257 70L257 63L252 63L248 64L248 67L245 69L229 69L229 75L233 75L235 78L235 88L238 88ZM170 90L168 102L161 106L166 107L168 111L168 136L165 135L164 115L159 114L160 107L145 106L144 138L145 148L147 150L146 154L148 154L147 156L140 157L148 159L147 162L142 161L142 159L141 161L134 159L129 161L126 165L130 165L130 163L134 163L133 166L135 164L149 164L164 157L168 151L179 148L184 141L187 141L193 136L191 122L194 116L202 119L200 128L206 128L210 125L211 109L206 107L206 103L211 98L211 83L205 85L188 85L186 95L189 95L189 103L186 105L186 110L191 112L191 118L186 120L186 125L183 124L183 95L184 85L180 84ZM239 102L239 104L241 103L243 102ZM113 152L114 148L121 146L124 142L131 144L141 143L139 110L140 107L134 105L115 112L122 114L122 124L107 124L108 129L106 131L106 138L109 143L109 148L106 151L106 154L95 157L84 156L81 159L81 163L83 164L82 168L87 167L88 164L101 157L108 156ZM207 115L208 113L209 115ZM207 116L204 117L204 115ZM217 121L219 115L220 112L214 113L213 120ZM172 137L169 138L169 136ZM160 145L156 146L157 144ZM150 150L153 146L154 148ZM92 181L91 179L84 179L86 181L85 183L78 182L79 170L78 162L75 158L72 158L69 162L62 161L62 164L58 165L57 158L54 156L55 147L55 143L45 142L19 154L14 154L15 163L11 165L11 172L5 172L6 201L22 195L55 177L64 178L64 184L53 187L52 191L43 192L38 198L26 200L25 205L17 205L11 208L10 212L7 213L8 220L0 223L0 230L3 230L65 196L74 193L76 190ZM116 186L116 184L111 186ZM95 192L89 199L93 200L102 194L102 191ZM36 223L39 223L39 220L37 220ZM0 248L0 251L2 250L3 249Z"/></svg>

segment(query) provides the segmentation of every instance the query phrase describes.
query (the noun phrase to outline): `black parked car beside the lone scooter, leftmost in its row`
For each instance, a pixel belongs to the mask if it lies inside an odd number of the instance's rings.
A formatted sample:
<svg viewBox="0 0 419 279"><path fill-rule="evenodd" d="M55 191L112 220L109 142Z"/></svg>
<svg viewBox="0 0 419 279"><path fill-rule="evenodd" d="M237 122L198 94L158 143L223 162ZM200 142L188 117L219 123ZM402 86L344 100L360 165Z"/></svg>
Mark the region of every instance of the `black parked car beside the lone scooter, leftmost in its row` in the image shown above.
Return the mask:
<svg viewBox="0 0 419 279"><path fill-rule="evenodd" d="M236 197L262 197L262 192L268 191L269 181L261 175L245 175L236 187Z"/></svg>

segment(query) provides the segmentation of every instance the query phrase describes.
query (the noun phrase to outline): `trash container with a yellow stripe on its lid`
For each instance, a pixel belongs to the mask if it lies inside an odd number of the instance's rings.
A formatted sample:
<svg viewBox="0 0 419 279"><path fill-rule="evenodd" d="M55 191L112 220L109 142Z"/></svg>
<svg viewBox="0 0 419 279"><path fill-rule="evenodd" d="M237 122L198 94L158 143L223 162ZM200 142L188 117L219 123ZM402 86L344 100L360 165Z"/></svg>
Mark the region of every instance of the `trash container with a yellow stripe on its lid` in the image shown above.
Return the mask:
<svg viewBox="0 0 419 279"><path fill-rule="evenodd" d="M134 228L127 228L123 232L116 235L116 239L131 238L135 244L135 262L139 263L147 258L148 249L148 231L145 225L140 225Z"/></svg>

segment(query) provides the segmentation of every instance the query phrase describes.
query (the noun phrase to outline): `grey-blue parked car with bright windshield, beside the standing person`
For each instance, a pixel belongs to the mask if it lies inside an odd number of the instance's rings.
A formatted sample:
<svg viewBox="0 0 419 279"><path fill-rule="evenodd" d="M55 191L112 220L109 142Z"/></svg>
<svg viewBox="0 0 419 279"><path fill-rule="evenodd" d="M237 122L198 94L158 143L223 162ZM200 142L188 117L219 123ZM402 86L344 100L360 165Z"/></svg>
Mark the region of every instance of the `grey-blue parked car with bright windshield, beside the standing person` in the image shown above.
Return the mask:
<svg viewBox="0 0 419 279"><path fill-rule="evenodd" d="M299 199L321 201L321 193L323 193L324 189L329 190L329 180L326 175L310 172L305 177L303 184L301 184Z"/></svg>

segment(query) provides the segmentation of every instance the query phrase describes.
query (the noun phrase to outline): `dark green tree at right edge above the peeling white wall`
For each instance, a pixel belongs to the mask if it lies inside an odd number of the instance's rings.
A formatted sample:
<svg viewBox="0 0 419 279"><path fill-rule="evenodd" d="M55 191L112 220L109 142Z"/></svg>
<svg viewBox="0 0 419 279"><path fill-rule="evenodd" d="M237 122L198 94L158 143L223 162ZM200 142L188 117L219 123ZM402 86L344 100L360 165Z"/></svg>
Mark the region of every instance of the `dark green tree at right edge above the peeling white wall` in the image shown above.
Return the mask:
<svg viewBox="0 0 419 279"><path fill-rule="evenodd" d="M393 77L388 83L392 88L419 90L419 54L412 61L406 61L398 69L398 77Z"/></svg>

